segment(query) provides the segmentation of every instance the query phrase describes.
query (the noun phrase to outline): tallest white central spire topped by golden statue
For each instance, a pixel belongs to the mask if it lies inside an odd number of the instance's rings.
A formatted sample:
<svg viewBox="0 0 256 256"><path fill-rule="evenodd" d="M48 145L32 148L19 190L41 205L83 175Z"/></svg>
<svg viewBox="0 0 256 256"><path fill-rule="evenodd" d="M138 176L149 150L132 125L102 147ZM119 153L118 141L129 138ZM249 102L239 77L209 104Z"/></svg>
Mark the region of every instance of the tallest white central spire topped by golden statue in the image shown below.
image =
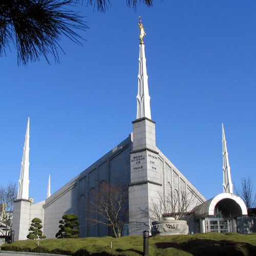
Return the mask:
<svg viewBox="0 0 256 256"><path fill-rule="evenodd" d="M150 94L148 93L147 72L146 72L146 57L143 37L146 34L139 21L140 28L140 53L139 53L139 74L138 74L138 95L137 95L137 119L147 117L151 119L150 110Z"/></svg>

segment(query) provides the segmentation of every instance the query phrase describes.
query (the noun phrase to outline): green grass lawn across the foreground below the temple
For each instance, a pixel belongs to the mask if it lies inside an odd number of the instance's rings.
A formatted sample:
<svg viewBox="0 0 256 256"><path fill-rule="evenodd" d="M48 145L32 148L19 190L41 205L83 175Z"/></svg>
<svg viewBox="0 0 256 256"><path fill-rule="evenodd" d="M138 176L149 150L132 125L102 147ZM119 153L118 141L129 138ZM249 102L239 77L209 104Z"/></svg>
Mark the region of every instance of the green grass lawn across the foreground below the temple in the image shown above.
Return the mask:
<svg viewBox="0 0 256 256"><path fill-rule="evenodd" d="M150 255L256 255L256 233L204 233L153 237ZM112 242L112 249L111 249ZM67 255L142 255L143 239L122 238L45 239L17 241L2 245L2 250L48 252Z"/></svg>

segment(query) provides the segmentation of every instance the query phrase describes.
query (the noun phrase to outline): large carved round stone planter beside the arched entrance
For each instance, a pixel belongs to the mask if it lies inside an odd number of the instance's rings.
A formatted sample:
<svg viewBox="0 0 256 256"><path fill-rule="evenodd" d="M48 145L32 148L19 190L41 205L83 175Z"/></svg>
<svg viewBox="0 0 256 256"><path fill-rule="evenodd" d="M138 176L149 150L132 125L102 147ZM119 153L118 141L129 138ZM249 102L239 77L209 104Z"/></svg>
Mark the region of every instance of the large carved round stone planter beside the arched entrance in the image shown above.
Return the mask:
<svg viewBox="0 0 256 256"><path fill-rule="evenodd" d="M168 236L173 234L188 234L186 221L175 220L172 217L165 217L163 221L152 222L152 236Z"/></svg>

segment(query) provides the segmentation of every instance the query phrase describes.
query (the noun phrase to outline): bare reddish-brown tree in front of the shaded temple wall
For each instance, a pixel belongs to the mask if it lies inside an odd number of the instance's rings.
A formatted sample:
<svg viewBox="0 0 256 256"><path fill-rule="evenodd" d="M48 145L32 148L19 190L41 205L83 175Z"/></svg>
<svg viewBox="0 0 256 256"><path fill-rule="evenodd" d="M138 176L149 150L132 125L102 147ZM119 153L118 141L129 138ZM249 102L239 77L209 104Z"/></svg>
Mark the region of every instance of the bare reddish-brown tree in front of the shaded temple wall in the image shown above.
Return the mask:
<svg viewBox="0 0 256 256"><path fill-rule="evenodd" d="M120 237L128 214L127 187L110 185L102 182L92 195L89 212L93 217L88 218L92 224L103 224L111 227L114 237Z"/></svg>

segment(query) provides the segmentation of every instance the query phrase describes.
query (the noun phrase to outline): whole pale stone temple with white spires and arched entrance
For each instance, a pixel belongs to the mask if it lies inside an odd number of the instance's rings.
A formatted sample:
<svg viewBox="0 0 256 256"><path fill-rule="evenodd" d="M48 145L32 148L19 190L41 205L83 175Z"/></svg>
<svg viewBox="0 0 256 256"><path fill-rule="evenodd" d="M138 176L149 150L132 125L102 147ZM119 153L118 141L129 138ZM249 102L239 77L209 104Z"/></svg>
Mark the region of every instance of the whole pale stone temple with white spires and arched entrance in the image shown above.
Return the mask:
<svg viewBox="0 0 256 256"><path fill-rule="evenodd" d="M206 200L157 147L156 123L151 116L148 90L143 41L145 32L141 20L139 27L137 115L132 122L133 132L53 194L49 176L47 198L39 203L33 203L30 198L33 195L29 194L28 119L18 195L14 202L12 229L15 231L15 240L27 239L31 220L35 217L42 220L45 236L55 238L59 220L64 214L78 215L81 237L111 236L112 232L107 226L92 226L89 223L92 212L88 211L88 205L102 182L129 187L126 205L129 215L126 218L127 225L122 230L123 235L141 235L151 227L151 204L159 205L159 197L167 202L170 197L180 200L181 195L193 198L183 217L187 220L190 233L240 231L238 219L247 215L247 208L243 200L233 194L224 126L223 193L210 200Z"/></svg>

